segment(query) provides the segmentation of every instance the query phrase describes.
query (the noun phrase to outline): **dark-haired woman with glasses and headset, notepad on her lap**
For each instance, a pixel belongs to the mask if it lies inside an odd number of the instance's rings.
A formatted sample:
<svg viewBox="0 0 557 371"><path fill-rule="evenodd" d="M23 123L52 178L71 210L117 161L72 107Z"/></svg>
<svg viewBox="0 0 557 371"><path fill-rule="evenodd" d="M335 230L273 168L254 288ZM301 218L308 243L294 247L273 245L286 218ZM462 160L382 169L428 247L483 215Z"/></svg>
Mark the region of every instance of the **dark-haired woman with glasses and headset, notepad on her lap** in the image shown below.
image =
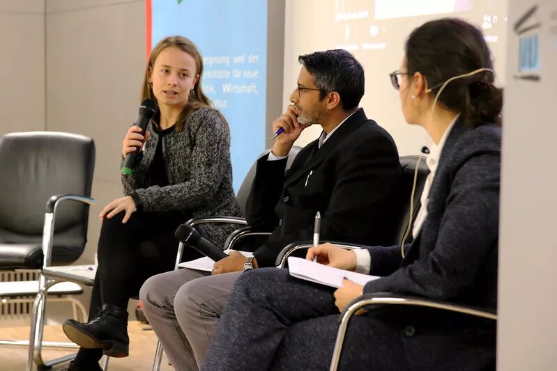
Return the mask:
<svg viewBox="0 0 557 371"><path fill-rule="evenodd" d="M381 278L333 290L286 269L243 274L204 370L324 370L339 310L393 292L496 309L502 91L482 33L459 19L415 29L390 74L406 121L432 139L422 207L405 246L310 248L307 259ZM351 319L341 370L491 370L496 324L436 309L383 307Z"/></svg>

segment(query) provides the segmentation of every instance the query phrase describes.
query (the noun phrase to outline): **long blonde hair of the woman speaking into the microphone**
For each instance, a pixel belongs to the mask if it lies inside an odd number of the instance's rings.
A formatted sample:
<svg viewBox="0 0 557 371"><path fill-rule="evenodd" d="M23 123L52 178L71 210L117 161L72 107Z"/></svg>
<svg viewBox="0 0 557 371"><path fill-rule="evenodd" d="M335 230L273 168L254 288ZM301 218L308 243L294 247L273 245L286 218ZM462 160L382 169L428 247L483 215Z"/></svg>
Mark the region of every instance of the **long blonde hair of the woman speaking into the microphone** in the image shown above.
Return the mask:
<svg viewBox="0 0 557 371"><path fill-rule="evenodd" d="M211 100L203 93L203 89L201 88L201 77L203 76L203 58L201 58L201 53L190 39L180 35L164 38L153 48L145 68L141 100L143 101L146 98L150 98L155 102L157 101L157 98L153 94L153 87L148 82L149 72L153 70L155 60L160 52L167 49L167 47L176 47L181 51L190 54L190 56L192 56L195 60L195 67L197 68L196 74L199 75L197 84L194 85L194 88L188 97L188 104L184 106L182 113L180 114L180 118L178 118L178 121L176 122L176 131L181 132L185 125L185 121L188 120L188 117L193 111L203 107L213 107L213 102L211 102ZM155 113L155 120L157 120L157 118L160 120L159 112Z"/></svg>

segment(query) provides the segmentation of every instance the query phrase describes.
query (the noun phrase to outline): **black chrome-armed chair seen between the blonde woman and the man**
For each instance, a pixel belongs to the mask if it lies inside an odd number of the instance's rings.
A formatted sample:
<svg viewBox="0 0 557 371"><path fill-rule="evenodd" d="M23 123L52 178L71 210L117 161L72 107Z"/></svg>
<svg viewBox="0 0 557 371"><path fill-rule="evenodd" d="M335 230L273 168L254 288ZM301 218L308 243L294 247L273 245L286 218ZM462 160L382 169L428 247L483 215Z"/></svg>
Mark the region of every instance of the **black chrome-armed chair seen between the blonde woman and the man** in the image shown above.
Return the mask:
<svg viewBox="0 0 557 371"><path fill-rule="evenodd" d="M297 145L293 145L293 147L291 148L288 154L287 170L290 168L290 166L292 165L292 161L294 161L296 155L298 155L298 152L300 152L301 149L302 149L301 147L298 147ZM263 153L261 153L261 155L257 157L257 159L259 159L259 157L261 157L262 155L268 152L270 152L269 149L265 150ZM238 206L240 207L240 210L243 215L245 215L245 204L247 203L247 196L250 195L250 190L252 189L252 182L255 177L256 167L257 167L257 160L250 168L250 171L248 171L247 174L245 175L245 178L240 186L240 189L238 189L238 192L236 194L236 200L238 201ZM186 222L186 224L188 224L191 227L197 226L199 224L204 224L204 223L231 223L231 224L238 224L238 226L245 226L244 228L235 230L234 232L231 233L231 235L229 235L229 237L224 242L224 246L222 246L223 250L226 250L227 248L233 248L234 246L236 246L236 244L238 244L238 242L241 239L244 239L245 237L270 235L270 232L260 232L260 231L252 230L252 228L248 226L245 218L236 217L236 216L211 216L207 218L194 218ZM176 262L174 262L174 270L178 269L178 264L180 264L182 260L184 246L185 245L183 244L183 242L180 242L180 244L178 244L178 253L176 254ZM159 341L157 342L157 350L155 351L155 360L153 361L153 371L158 371L160 369L161 361L162 361L162 345L160 344Z"/></svg>

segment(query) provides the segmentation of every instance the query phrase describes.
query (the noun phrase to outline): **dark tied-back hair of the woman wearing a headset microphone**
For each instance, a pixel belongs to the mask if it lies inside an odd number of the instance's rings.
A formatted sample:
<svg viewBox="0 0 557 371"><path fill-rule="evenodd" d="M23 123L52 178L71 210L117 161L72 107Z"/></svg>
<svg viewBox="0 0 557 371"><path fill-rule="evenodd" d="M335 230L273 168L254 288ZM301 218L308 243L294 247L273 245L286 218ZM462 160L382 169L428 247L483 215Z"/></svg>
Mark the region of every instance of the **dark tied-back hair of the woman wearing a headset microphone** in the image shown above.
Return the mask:
<svg viewBox="0 0 557 371"><path fill-rule="evenodd" d="M451 77L480 68L493 69L482 32L461 19L444 18L422 24L406 40L408 72L421 72L436 95ZM450 81L438 102L461 113L467 125L501 125L503 90L494 86L491 71Z"/></svg>

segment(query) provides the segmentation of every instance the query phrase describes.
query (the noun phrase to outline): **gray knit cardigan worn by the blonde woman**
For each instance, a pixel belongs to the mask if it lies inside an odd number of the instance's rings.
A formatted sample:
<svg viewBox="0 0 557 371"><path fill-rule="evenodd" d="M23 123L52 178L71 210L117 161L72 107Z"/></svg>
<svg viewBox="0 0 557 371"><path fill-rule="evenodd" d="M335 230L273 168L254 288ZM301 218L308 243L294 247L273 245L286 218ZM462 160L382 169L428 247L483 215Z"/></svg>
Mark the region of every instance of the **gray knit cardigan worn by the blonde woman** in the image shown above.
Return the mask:
<svg viewBox="0 0 557 371"><path fill-rule="evenodd" d="M135 191L144 212L184 210L195 218L240 216L232 189L230 130L218 111L197 109L186 120L181 132L175 130L163 138L162 155L170 184L166 187L145 188L146 173L159 140L152 122L147 129L151 138L144 143L142 157L133 174L122 175L126 196ZM224 239L235 227L207 223L196 229L213 244L223 246Z"/></svg>

